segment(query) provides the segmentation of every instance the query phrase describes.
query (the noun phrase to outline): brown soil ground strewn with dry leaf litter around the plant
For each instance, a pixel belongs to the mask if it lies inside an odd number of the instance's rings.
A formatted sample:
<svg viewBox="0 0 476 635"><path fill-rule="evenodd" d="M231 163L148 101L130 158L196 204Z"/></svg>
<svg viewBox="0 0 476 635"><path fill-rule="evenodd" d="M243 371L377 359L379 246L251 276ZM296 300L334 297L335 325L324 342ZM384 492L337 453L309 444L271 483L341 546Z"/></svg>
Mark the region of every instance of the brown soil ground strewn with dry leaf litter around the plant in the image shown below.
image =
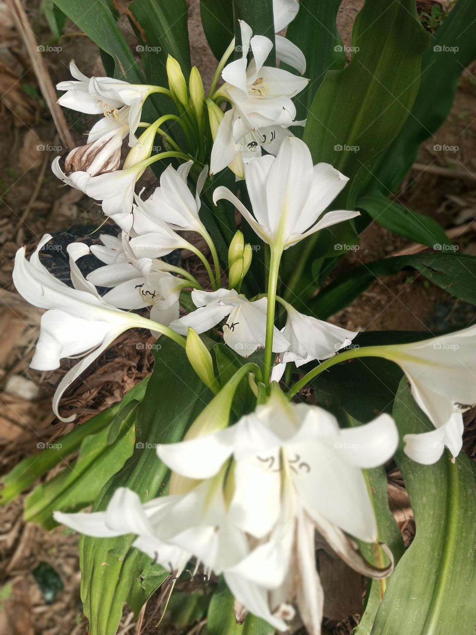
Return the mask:
<svg viewBox="0 0 476 635"><path fill-rule="evenodd" d="M199 20L199 4L191 1L189 29L192 62L205 81L215 70ZM346 43L362 1L342 3L338 27ZM25 8L40 43L51 35L39 10L39 0L25 0ZM127 19L122 30L134 42ZM102 223L95 203L76 190L63 187L51 174L50 163L60 142L41 93L34 69L11 13L0 3L0 472L8 472L22 457L41 443L53 443L71 425L53 424L51 395L67 369L53 373L29 370L39 326L39 315L23 302L11 283L13 256L18 246L32 247L44 232L83 239ZM96 47L79 30L67 24L61 50L45 53L53 83L69 78L68 64L74 58L86 74L102 74ZM397 199L409 208L435 218L445 229L454 230L459 253L476 255L476 77L475 69L462 70L458 94L451 114L435 137L421 147L418 164L426 169L411 172L397 192ZM65 110L67 124L79 145L90 127L88 116ZM434 145L458 146L456 152L437 152ZM445 176L435 168L456 168ZM409 241L371 224L361 236L360 250L348 255L343 267L370 262L409 248ZM195 266L190 264L190 266ZM351 330L441 330L465 326L476 317L474 307L460 302L419 276L402 273L376 281L371 288L333 321ZM136 381L150 370L152 359L144 333L129 333L114 349L98 360L88 375L69 392L65 406L79 410L79 423L106 406L119 401ZM473 425L468 425L466 450L475 453ZM64 466L59 469L67 469ZM56 472L54 472L56 473ZM48 476L51 478L53 473ZM399 474L390 474L389 495L395 516L407 542L414 526ZM77 536L57 528L50 533L25 525L20 497L1 512L0 519L0 633L11 635L85 635L87 626L79 600ZM48 563L60 575L64 589L48 604L32 572ZM1 584L4 584L2 587ZM11 589L6 591L6 589ZM187 587L189 589L189 587ZM6 595L10 598L6 599ZM5 596L5 597L4 597ZM149 601L140 628L124 609L121 633L156 633L157 596ZM349 610L327 620L324 632L347 635L357 619ZM341 607L343 610L343 607ZM352 615L351 615L352 614ZM350 615L351 617L345 617ZM340 621L339 621L340 620ZM202 624L187 632L198 633ZM296 625L294 632L299 631ZM175 630L163 625L159 632ZM182 631L185 632L185 631Z"/></svg>

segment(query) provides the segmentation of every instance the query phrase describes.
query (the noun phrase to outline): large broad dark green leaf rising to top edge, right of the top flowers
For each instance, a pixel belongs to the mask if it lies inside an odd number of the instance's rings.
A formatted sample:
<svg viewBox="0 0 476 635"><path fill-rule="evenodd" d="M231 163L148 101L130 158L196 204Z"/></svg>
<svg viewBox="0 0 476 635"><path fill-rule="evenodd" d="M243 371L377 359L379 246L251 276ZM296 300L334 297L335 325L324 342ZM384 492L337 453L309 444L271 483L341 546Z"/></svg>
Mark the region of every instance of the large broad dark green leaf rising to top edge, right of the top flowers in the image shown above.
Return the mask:
<svg viewBox="0 0 476 635"><path fill-rule="evenodd" d="M343 203L347 199L348 209L409 115L428 35L413 0L366 0L355 20L352 46L350 64L324 77L303 135L314 163L331 163L350 178L340 197Z"/></svg>

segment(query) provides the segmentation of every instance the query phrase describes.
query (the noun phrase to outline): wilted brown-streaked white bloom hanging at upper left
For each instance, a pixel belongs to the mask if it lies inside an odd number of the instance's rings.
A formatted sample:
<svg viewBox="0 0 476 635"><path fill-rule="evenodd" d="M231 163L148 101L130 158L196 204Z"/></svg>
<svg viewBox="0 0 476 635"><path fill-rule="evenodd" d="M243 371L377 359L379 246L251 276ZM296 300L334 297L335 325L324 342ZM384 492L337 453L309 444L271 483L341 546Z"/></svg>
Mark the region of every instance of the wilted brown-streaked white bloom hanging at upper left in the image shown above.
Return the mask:
<svg viewBox="0 0 476 635"><path fill-rule="evenodd" d="M90 144L74 148L64 160L64 173L88 172L91 177L105 172L114 172L121 161L122 137L117 134L103 135Z"/></svg>

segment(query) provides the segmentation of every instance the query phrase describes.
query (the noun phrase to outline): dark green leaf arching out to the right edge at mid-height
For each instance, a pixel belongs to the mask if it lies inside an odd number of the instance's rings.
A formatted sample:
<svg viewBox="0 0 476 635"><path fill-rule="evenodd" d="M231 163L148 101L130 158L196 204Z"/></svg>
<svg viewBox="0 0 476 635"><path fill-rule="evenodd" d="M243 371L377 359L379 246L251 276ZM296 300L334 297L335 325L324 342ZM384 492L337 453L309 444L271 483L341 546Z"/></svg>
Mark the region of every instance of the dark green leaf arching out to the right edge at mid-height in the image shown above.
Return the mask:
<svg viewBox="0 0 476 635"><path fill-rule="evenodd" d="M338 277L308 305L312 314L321 319L347 307L380 276L396 274L406 267L413 267L432 283L465 302L476 304L476 258L453 253L421 253L412 256L396 256L375 260L355 267Z"/></svg>

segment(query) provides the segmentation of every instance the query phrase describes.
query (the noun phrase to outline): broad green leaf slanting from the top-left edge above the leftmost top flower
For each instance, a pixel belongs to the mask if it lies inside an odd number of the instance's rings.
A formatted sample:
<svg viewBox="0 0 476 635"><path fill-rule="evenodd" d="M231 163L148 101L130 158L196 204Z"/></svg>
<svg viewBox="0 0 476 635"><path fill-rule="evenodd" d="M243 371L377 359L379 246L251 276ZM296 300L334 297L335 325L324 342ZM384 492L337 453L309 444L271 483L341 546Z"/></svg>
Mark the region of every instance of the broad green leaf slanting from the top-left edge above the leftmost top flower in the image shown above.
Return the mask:
<svg viewBox="0 0 476 635"><path fill-rule="evenodd" d="M83 30L115 63L114 77L143 84L143 74L106 0L55 0L63 13Z"/></svg>

